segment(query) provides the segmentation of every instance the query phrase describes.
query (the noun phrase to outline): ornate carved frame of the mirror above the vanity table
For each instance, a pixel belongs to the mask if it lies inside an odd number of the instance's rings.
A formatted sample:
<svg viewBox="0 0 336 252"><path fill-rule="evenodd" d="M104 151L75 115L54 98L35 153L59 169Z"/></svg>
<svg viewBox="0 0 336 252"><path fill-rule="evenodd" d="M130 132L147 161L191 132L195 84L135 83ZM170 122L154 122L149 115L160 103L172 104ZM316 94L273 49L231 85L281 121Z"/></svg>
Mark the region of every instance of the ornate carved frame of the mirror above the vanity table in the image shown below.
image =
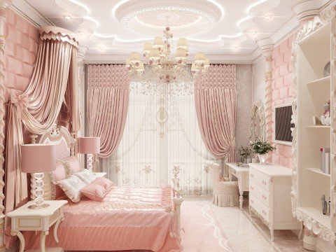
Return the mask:
<svg viewBox="0 0 336 252"><path fill-rule="evenodd" d="M256 118L257 116L260 118L259 125L256 124ZM256 134L256 127L260 128L260 136L257 136ZM253 103L252 109L251 109L251 125L250 129L248 130L250 136L248 139L250 141L254 141L257 137L260 139L265 139L265 111L264 111L264 105L261 101L256 101Z"/></svg>

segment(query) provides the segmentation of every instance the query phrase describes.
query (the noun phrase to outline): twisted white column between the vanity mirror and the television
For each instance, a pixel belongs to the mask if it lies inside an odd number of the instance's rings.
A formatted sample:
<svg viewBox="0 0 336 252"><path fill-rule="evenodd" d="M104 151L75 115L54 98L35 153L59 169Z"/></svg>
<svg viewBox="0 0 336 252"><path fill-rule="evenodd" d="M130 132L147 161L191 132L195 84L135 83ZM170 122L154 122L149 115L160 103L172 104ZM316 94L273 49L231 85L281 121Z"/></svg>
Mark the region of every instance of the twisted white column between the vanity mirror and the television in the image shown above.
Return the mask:
<svg viewBox="0 0 336 252"><path fill-rule="evenodd" d="M272 53L274 43L271 38L266 38L258 41L258 45L262 56L265 58L265 138L269 143L272 143ZM272 162L272 156L267 155L267 162Z"/></svg>

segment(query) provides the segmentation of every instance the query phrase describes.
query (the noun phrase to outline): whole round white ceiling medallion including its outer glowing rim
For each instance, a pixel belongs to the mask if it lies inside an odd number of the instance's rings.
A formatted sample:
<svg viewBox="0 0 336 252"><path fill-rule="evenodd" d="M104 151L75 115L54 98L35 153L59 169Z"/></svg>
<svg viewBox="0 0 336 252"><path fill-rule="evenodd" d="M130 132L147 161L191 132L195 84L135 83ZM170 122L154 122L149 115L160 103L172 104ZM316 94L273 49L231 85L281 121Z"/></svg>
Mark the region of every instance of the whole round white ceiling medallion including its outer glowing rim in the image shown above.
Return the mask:
<svg viewBox="0 0 336 252"><path fill-rule="evenodd" d="M113 9L113 15L124 29L136 34L155 36L169 25L177 36L191 36L214 27L224 10L208 0L195 1L193 6L180 0L129 0Z"/></svg>

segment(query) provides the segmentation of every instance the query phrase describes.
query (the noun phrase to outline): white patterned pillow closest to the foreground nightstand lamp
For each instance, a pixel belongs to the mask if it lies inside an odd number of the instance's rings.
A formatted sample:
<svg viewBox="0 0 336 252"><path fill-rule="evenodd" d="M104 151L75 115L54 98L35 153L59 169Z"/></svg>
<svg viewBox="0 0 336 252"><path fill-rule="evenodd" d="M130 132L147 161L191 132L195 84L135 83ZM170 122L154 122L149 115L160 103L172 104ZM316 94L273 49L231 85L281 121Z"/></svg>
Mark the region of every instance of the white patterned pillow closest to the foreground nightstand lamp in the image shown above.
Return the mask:
<svg viewBox="0 0 336 252"><path fill-rule="evenodd" d="M79 202L80 197L82 196L82 193L80 193L80 189L84 188L86 184L78 179L77 176L71 175L69 179L63 179L61 181L58 181L57 185L64 190L64 193L66 196L69 197L69 199L72 202Z"/></svg>

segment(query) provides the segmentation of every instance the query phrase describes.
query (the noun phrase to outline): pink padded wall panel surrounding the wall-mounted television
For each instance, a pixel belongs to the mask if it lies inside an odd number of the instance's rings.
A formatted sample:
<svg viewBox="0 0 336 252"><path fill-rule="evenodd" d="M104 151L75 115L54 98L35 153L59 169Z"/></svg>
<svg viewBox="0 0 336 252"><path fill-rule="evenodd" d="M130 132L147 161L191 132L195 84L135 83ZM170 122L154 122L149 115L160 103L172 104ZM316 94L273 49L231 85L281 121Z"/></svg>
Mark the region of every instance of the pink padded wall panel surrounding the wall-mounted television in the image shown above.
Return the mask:
<svg viewBox="0 0 336 252"><path fill-rule="evenodd" d="M292 102L293 82L292 82L292 62L290 60L292 48L292 38L286 39L273 51L272 60L272 111L274 105ZM273 117L272 117L273 118ZM274 134L274 123L272 122L272 132ZM292 147L276 144L276 151L272 155L272 162L285 167L293 167Z"/></svg>

